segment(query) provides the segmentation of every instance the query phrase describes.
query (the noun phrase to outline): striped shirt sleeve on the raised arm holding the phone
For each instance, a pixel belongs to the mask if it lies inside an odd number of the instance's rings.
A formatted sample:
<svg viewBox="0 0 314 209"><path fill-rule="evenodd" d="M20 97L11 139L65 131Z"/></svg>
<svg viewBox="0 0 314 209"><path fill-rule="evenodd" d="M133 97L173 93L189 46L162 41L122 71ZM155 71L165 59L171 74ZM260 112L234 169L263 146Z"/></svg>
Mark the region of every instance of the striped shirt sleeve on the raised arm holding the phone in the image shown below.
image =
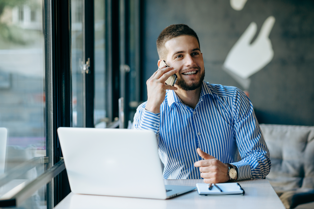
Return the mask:
<svg viewBox="0 0 314 209"><path fill-rule="evenodd" d="M133 120L134 129L152 130L159 134L160 113L155 114L145 109L146 102L141 104L135 113Z"/></svg>

